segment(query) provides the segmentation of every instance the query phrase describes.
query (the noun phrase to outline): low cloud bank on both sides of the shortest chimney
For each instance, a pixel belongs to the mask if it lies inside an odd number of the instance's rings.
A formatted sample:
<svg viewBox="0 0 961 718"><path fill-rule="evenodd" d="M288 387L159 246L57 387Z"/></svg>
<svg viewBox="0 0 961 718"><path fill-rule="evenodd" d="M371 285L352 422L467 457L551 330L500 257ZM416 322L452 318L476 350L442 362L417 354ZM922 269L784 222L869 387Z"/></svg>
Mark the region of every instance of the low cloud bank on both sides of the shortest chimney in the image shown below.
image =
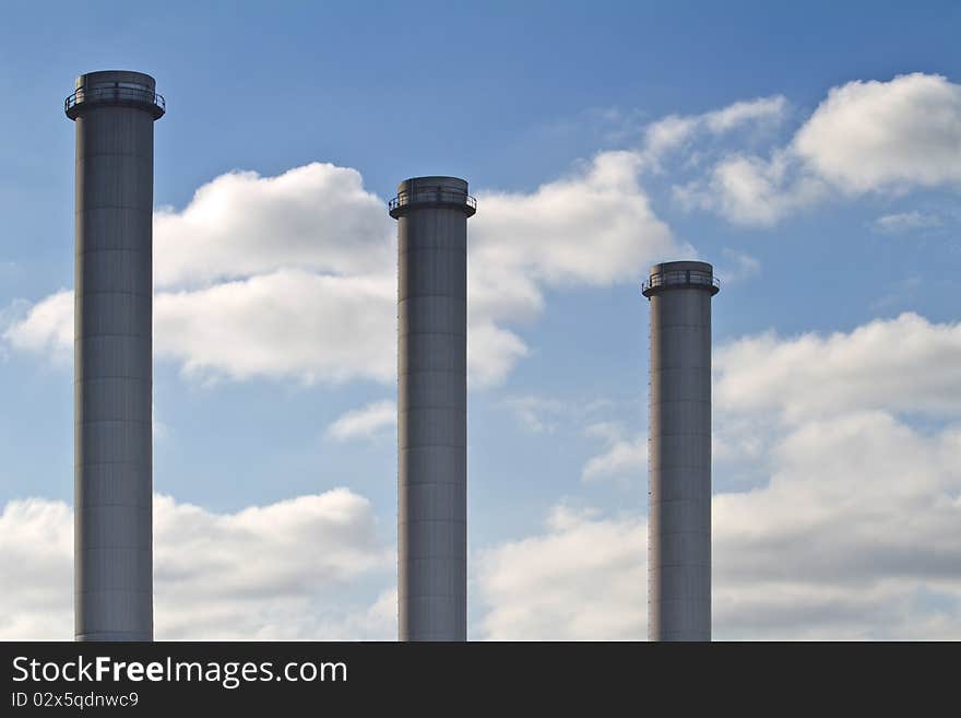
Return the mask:
<svg viewBox="0 0 961 718"><path fill-rule="evenodd" d="M961 638L959 339L904 315L717 353L715 466L758 475L714 496L716 637ZM485 635L642 637L645 556L640 514L561 507L484 554Z"/></svg>

